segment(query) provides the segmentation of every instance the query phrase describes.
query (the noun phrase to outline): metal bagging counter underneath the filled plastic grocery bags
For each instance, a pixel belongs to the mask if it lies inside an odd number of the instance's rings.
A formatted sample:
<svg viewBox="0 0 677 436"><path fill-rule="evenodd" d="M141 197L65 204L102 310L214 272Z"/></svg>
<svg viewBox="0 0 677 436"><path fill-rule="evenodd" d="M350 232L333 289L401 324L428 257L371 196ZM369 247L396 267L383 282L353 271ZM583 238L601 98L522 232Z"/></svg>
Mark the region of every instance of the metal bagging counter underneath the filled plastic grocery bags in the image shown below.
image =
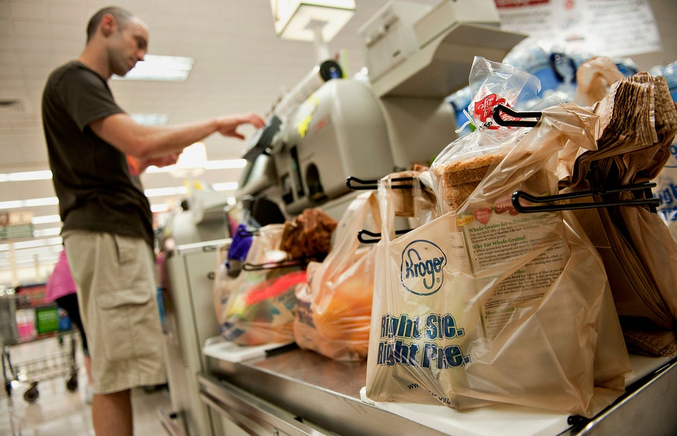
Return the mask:
<svg viewBox="0 0 677 436"><path fill-rule="evenodd" d="M458 412L442 405L373 403L366 361L332 361L293 345L246 361L207 347L200 399L235 430L225 435L675 435L677 357L631 356L626 393L592 420L513 405Z"/></svg>

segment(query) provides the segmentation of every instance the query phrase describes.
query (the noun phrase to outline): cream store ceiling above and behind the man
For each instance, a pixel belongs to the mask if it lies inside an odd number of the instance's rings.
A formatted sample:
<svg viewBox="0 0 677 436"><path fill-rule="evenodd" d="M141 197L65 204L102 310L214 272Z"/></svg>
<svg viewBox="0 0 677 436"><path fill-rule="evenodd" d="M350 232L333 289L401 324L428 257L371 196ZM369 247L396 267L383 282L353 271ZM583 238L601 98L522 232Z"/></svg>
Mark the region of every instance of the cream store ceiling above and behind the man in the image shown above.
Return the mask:
<svg viewBox="0 0 677 436"><path fill-rule="evenodd" d="M411 0L410 0L411 1ZM439 0L413 0L435 5ZM0 174L47 170L40 122L40 95L50 71L75 59L84 47L89 17L109 0L0 0ZM313 43L276 36L269 0L117 0L142 18L150 29L149 54L195 58L185 82L110 82L119 105L131 114L167 114L168 123L195 121L218 114L254 111L267 115L285 91L292 89L318 63ZM344 68L354 75L362 66L359 28L387 0L357 0L355 16L328 43L329 52L346 54ZM674 22L675 3L651 0L657 19ZM641 68L677 58L674 27L661 24L667 50ZM660 24L660 23L659 23ZM667 44L666 44L667 43ZM251 135L251 128L241 133ZM212 135L204 141L209 160L239 158L246 142ZM208 170L200 181L237 181L240 169ZM144 174L145 188L181 186L170 174ZM54 197L51 180L0 182L0 203ZM151 203L165 202L162 197ZM0 207L0 209L2 209ZM57 214L57 205L24 208L34 216ZM1 211L1 210L0 210ZM14 211L14 209L10 210ZM59 223L35 225L36 234ZM58 229L57 229L58 230ZM52 230L54 232L54 230ZM40 239L40 238L38 238ZM45 245L38 242L38 245ZM44 264L54 262L58 245L16 250L0 241L0 273L10 258ZM38 253L38 250L39 251ZM36 266L37 268L37 266ZM0 284L2 281L0 280Z"/></svg>

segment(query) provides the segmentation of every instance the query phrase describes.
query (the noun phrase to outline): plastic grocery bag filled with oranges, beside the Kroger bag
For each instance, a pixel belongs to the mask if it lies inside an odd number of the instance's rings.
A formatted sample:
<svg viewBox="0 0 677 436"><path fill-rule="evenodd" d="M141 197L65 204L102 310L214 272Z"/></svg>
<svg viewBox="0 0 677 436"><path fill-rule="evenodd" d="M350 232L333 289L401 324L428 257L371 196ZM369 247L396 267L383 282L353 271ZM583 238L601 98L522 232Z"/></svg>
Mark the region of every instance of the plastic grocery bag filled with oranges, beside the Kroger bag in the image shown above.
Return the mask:
<svg viewBox="0 0 677 436"><path fill-rule="evenodd" d="M369 347L375 246L361 246L359 230L380 228L375 193L353 200L324 262L308 264L308 281L297 287L297 345L331 359L366 358Z"/></svg>

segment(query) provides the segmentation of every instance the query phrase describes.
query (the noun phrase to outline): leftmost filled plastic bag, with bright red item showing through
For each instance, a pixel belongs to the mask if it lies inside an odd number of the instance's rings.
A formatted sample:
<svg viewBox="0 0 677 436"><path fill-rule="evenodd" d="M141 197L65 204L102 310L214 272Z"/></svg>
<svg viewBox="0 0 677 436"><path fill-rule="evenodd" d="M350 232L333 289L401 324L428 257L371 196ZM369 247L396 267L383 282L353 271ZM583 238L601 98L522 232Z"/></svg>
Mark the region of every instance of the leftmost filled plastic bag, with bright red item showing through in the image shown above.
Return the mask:
<svg viewBox="0 0 677 436"><path fill-rule="evenodd" d="M246 262L237 278L225 282L228 298L218 317L221 335L239 345L284 343L294 340L297 306L294 294L306 271L298 262L285 262L279 249L282 224L255 233Z"/></svg>

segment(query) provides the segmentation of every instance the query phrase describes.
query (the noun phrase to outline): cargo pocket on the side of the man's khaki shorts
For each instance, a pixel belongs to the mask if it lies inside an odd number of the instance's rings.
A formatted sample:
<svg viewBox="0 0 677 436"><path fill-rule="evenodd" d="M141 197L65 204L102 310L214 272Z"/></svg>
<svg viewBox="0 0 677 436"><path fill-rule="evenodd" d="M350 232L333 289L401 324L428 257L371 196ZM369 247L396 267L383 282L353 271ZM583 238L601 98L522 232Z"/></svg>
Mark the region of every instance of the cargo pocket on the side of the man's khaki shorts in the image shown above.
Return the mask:
<svg viewBox="0 0 677 436"><path fill-rule="evenodd" d="M107 361L159 352L160 320L154 295L145 288L104 292L96 297L98 340Z"/></svg>

